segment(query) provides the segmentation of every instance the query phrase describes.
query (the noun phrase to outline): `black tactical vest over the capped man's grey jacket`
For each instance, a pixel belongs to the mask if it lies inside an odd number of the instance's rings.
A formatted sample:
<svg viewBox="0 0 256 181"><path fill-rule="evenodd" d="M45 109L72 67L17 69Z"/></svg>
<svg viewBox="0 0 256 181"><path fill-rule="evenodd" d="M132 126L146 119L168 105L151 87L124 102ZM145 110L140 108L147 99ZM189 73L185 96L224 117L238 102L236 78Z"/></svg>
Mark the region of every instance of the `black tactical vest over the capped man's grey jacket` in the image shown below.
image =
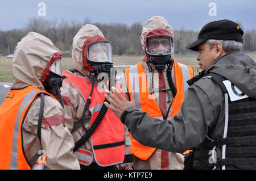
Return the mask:
<svg viewBox="0 0 256 181"><path fill-rule="evenodd" d="M218 120L225 123L224 133L219 140L205 138L185 155L184 169L256 169L256 99L220 75L206 76L225 95L225 120Z"/></svg>

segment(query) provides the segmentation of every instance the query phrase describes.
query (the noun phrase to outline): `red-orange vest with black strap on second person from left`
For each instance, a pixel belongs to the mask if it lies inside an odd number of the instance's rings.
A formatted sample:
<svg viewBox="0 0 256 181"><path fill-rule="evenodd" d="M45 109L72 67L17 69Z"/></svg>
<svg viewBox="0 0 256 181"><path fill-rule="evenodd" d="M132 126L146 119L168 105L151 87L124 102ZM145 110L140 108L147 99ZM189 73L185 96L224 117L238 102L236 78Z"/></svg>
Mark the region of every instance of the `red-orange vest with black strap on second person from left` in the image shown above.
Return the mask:
<svg viewBox="0 0 256 181"><path fill-rule="evenodd" d="M92 89L92 82L88 83L86 77L77 76L71 71L64 71L62 74L68 77L73 87L77 89L86 103L86 100L90 95L90 90ZM117 87L117 85L115 85L115 87ZM119 87L117 87L117 89L119 89ZM92 113L90 125L96 120L102 104L104 104L104 94L105 92L103 90L94 85L91 103L89 104L89 111ZM123 94L123 96L125 95ZM122 122L114 115L113 111L108 110L106 112L106 115L90 139L92 142L94 159L98 165L110 166L124 161L125 131ZM74 154L76 155L76 152ZM81 162L81 164L88 165L89 163L86 164Z"/></svg>

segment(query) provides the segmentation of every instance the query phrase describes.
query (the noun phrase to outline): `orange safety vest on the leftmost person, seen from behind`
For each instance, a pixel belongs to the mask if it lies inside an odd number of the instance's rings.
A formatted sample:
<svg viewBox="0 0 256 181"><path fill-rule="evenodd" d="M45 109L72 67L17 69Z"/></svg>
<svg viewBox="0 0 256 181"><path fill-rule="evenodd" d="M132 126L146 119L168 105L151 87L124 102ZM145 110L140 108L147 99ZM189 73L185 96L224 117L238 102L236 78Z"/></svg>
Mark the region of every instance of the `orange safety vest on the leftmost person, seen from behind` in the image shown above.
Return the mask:
<svg viewBox="0 0 256 181"><path fill-rule="evenodd" d="M37 87L27 86L10 90L6 95L0 107L0 169L44 169L46 155L38 165L29 165L22 144L22 124L31 104L42 92L48 94Z"/></svg>

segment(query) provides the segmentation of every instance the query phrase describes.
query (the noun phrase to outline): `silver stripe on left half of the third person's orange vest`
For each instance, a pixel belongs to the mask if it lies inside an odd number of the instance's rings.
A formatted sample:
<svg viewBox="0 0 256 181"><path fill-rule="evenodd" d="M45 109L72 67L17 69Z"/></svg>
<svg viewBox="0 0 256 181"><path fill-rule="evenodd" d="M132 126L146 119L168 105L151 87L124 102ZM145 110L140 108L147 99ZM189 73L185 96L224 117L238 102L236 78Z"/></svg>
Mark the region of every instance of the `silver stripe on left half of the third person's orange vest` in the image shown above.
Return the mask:
<svg viewBox="0 0 256 181"><path fill-rule="evenodd" d="M139 78L138 78L138 66L134 65L130 68L130 82L131 82L131 89L135 90L135 100L136 100L136 107L139 111L142 111L141 106L141 95L139 94Z"/></svg>

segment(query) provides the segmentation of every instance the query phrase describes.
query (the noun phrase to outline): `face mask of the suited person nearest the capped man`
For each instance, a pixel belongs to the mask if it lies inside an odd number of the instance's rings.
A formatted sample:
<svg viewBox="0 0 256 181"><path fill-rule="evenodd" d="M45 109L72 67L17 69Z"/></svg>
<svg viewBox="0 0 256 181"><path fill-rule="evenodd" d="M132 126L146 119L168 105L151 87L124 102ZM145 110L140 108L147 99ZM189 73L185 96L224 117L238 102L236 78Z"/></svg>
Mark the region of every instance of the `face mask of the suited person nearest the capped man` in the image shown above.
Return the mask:
<svg viewBox="0 0 256 181"><path fill-rule="evenodd" d="M170 64L170 55L174 50L173 39L167 35L149 36L146 38L145 50L150 56L148 63L154 64L156 70L163 71Z"/></svg>

